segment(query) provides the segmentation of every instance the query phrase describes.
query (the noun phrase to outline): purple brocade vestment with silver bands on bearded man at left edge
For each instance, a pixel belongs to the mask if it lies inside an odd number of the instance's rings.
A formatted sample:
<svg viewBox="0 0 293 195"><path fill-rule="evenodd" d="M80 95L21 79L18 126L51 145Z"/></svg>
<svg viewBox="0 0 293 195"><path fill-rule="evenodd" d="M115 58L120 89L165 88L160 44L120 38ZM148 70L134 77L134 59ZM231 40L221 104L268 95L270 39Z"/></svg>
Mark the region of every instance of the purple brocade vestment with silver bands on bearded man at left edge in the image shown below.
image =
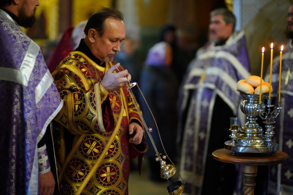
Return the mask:
<svg viewBox="0 0 293 195"><path fill-rule="evenodd" d="M37 144L63 102L40 47L0 9L1 194L38 194Z"/></svg>

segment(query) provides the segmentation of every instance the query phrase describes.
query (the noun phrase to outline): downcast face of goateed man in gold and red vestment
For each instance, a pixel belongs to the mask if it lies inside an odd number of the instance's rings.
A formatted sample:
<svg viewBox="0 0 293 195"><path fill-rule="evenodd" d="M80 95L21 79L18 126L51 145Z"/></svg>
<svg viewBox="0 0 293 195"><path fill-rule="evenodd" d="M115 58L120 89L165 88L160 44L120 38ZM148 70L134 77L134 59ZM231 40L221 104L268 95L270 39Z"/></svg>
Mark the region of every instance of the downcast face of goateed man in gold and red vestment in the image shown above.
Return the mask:
<svg viewBox="0 0 293 195"><path fill-rule="evenodd" d="M107 18L102 37L97 32L93 54L103 62L111 62L120 51L121 42L125 39L125 25L121 20Z"/></svg>

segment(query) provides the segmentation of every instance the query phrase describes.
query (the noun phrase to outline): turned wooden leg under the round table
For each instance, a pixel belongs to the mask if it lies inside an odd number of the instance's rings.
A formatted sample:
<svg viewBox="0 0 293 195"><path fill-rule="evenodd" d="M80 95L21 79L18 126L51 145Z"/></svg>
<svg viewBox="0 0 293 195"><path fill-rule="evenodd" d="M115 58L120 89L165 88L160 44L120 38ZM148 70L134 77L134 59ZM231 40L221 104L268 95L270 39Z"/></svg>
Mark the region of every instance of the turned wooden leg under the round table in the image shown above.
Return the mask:
<svg viewBox="0 0 293 195"><path fill-rule="evenodd" d="M254 177L257 175L257 165L243 165L242 175L244 176L244 195L254 194Z"/></svg>

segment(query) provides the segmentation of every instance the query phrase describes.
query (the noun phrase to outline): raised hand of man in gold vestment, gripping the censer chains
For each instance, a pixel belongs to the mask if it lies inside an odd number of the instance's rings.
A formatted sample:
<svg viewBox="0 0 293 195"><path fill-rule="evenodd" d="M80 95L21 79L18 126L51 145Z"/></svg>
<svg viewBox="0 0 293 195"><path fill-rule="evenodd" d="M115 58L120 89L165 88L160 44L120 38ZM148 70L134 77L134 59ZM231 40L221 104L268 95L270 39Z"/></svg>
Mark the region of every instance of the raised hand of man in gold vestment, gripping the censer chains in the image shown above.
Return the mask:
<svg viewBox="0 0 293 195"><path fill-rule="evenodd" d="M116 64L117 68L120 66L120 63ZM119 73L114 73L114 71L117 70L115 65L113 65L111 68L107 70L105 73L103 80L101 81L101 84L105 89L107 89L108 92L113 92L117 89L120 89L125 82L128 80L131 80L131 75L128 73L127 70L120 71Z"/></svg>

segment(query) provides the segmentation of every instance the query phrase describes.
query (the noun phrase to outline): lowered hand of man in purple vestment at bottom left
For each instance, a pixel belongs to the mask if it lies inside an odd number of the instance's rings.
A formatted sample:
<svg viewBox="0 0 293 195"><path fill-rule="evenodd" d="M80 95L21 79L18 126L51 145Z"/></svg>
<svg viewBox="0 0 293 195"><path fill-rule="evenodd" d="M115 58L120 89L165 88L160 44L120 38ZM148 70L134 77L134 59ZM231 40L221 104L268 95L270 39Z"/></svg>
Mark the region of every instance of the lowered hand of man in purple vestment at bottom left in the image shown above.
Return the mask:
<svg viewBox="0 0 293 195"><path fill-rule="evenodd" d="M55 180L51 171L39 175L40 195L54 194Z"/></svg>

